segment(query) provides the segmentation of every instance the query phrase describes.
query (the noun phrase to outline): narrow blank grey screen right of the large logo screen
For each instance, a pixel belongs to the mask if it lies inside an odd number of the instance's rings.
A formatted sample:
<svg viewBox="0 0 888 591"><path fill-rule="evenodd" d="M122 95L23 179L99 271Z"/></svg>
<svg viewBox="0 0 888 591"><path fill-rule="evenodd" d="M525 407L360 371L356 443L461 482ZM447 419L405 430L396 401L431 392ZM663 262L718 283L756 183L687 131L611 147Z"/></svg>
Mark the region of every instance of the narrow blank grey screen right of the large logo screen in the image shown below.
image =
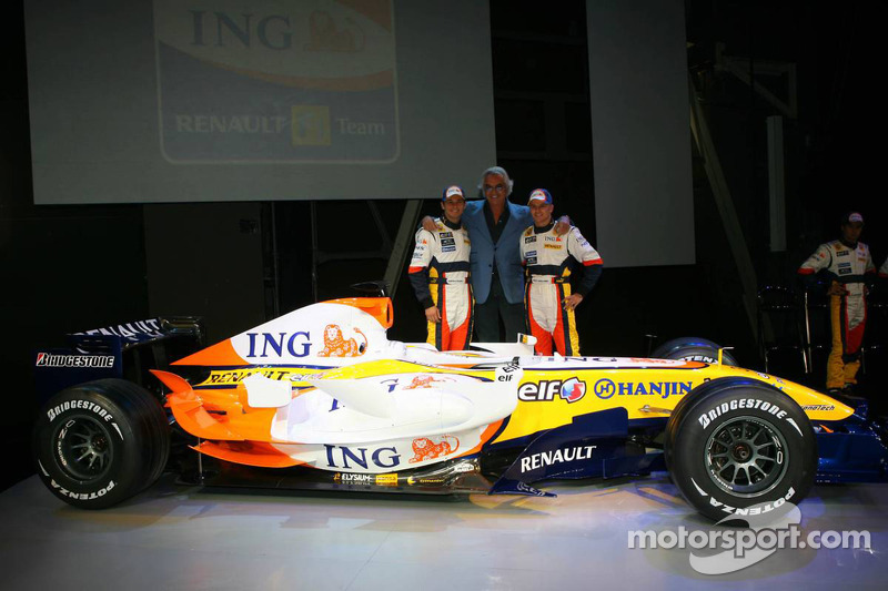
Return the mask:
<svg viewBox="0 0 888 591"><path fill-rule="evenodd" d="M608 267L693 265L682 0L587 0L597 248Z"/></svg>

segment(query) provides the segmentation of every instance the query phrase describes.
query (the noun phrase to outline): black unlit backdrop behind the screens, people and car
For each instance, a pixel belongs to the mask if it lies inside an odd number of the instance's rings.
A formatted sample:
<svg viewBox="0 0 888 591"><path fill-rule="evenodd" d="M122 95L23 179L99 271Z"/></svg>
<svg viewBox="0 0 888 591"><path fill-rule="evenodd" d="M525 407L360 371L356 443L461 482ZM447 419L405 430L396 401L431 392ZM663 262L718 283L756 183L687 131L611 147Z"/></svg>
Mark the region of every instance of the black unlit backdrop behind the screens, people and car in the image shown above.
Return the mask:
<svg viewBox="0 0 888 591"><path fill-rule="evenodd" d="M837 236L839 215L846 210L866 217L862 240L870 244L877 266L888 255L880 215L886 111L878 91L888 9L868 1L774 4L686 1L688 69L759 287L791 286L800 262L817 244ZM544 10L525 0L491 1L497 163L516 181L516 202L536 186L549 188L556 213L569 214L595 244L595 130L589 124L585 2L547 6L555 8ZM387 257L372 254L384 252L386 243L369 205L361 202L34 206L22 7L13 2L7 10L7 83L0 91L0 425L12 461L0 470L3 487L32 472L30 425L37 405L31 366L38 347L60 344L69 332L163 313L202 315L210 340L225 338L314 302L315 288L317 299L353 295L349 285L381 278ZM778 113L749 85L715 68L717 43L730 55L749 58L754 78L751 60L797 65L799 113L784 124L786 252L771 253L768 247L765 119ZM462 182L474 191L477 180ZM659 342L699 335L735 346L743 365L763 367L743 309L737 269L696 153L694 203L696 265L607 268L603 253L603 278L578 309L584 354L640 355L647 351L645 335L657 335ZM404 203L375 206L389 237L394 237ZM436 201L430 198L425 212L436 211ZM157 224L164 220L174 223L162 234L163 256L149 256L147 240L158 240ZM629 226L624 230L633 232ZM317 265L314 281L313 236L317 252L331 258ZM238 258L248 248L261 252L261 269L241 264L251 261ZM330 256L345 251L363 252L366 258ZM163 281L181 282L188 309L168 309L175 303L154 297L157 267L163 268ZM395 309L390 337L423 340L422 310L403 276ZM874 394L880 394L875 387L877 366L869 363L864 376ZM786 373L816 386L823 380L819 375L796 376L796 370L788 365Z"/></svg>

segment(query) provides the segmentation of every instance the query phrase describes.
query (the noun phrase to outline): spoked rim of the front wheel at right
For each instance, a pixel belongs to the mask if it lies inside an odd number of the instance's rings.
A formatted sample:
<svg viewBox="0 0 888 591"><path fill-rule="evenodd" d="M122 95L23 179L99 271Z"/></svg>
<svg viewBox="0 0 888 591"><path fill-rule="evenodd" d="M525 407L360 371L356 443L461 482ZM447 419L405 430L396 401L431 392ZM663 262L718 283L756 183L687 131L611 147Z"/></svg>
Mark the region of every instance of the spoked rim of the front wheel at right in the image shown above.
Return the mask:
<svg viewBox="0 0 888 591"><path fill-rule="evenodd" d="M709 478L737 497L758 497L776 487L786 472L786 440L773 424L758 417L736 417L706 442Z"/></svg>

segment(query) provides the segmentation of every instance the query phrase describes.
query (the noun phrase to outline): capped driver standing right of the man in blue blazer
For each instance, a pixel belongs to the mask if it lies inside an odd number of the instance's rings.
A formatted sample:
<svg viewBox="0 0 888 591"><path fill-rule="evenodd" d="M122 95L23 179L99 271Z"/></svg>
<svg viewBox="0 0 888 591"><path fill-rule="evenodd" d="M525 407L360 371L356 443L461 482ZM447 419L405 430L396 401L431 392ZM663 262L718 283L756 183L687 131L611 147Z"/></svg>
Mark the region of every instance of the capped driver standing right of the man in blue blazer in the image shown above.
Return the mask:
<svg viewBox="0 0 888 591"><path fill-rule="evenodd" d="M552 355L553 342L561 355L579 355L574 309L602 275L602 257L576 226L566 235L554 231L552 195L545 188L531 192L527 205L534 225L522 233L521 258L526 267L524 305L527 325L536 337L536 351ZM571 293L571 257L585 267L576 293Z"/></svg>

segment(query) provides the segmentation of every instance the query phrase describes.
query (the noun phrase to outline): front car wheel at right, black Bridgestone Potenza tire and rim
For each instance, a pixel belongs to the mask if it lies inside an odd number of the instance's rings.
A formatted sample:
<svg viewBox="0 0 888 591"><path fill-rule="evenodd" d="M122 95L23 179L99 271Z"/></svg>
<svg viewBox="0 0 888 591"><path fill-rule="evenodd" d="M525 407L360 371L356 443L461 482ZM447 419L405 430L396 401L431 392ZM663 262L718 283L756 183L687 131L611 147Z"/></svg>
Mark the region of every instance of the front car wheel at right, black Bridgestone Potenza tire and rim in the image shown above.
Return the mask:
<svg viewBox="0 0 888 591"><path fill-rule="evenodd" d="M716 521L741 520L755 505L798 503L817 475L817 439L805 411L751 378L695 388L669 416L664 447L682 495Z"/></svg>

